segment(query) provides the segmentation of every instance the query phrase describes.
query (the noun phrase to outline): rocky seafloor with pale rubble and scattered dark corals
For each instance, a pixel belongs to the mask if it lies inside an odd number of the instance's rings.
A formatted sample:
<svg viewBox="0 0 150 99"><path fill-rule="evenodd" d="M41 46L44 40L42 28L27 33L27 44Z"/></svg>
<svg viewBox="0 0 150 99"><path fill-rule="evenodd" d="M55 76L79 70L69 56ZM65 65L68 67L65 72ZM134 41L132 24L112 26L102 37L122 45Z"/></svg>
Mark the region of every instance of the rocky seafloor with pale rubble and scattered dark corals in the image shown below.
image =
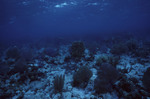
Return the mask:
<svg viewBox="0 0 150 99"><path fill-rule="evenodd" d="M0 99L150 99L150 41L0 44Z"/></svg>

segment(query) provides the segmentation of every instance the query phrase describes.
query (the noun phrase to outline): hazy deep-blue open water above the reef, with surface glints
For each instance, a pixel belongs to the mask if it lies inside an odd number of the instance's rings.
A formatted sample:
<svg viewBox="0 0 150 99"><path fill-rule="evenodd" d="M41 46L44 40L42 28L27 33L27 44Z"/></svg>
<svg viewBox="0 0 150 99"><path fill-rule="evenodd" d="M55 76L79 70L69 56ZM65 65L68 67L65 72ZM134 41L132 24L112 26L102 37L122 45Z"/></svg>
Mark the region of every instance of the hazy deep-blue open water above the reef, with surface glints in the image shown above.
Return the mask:
<svg viewBox="0 0 150 99"><path fill-rule="evenodd" d="M0 0L0 39L150 33L150 0Z"/></svg>

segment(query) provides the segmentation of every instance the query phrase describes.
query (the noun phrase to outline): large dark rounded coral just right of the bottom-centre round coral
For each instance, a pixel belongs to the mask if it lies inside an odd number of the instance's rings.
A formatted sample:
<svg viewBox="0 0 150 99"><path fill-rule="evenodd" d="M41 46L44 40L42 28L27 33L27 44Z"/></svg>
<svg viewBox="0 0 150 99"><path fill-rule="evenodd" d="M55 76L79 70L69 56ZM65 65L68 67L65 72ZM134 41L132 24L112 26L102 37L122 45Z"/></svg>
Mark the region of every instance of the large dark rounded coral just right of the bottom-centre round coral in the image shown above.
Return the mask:
<svg viewBox="0 0 150 99"><path fill-rule="evenodd" d="M112 90L112 85L117 81L119 73L111 64L104 63L98 72L98 77L94 81L96 93L106 93Z"/></svg>

